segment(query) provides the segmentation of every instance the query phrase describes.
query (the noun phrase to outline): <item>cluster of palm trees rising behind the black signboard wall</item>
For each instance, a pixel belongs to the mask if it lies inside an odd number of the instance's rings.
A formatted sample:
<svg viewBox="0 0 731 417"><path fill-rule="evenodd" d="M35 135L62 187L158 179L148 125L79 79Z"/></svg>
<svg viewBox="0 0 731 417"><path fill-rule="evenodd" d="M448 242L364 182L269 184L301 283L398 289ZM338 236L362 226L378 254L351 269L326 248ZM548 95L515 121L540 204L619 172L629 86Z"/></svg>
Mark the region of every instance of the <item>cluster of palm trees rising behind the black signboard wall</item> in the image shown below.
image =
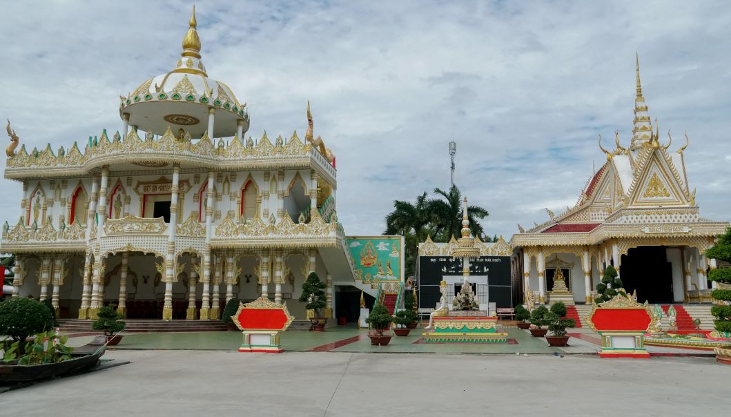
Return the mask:
<svg viewBox="0 0 731 417"><path fill-rule="evenodd" d="M418 195L414 203L395 200L393 211L386 216L385 235L404 236L404 264L406 276L416 271L417 245L431 236L433 241L447 242L460 236L462 230L462 193L452 186L448 191L434 189L436 198L429 199L426 192ZM488 211L479 206L467 207L472 236L482 241L497 241L497 236L485 236L477 219L484 219Z"/></svg>

